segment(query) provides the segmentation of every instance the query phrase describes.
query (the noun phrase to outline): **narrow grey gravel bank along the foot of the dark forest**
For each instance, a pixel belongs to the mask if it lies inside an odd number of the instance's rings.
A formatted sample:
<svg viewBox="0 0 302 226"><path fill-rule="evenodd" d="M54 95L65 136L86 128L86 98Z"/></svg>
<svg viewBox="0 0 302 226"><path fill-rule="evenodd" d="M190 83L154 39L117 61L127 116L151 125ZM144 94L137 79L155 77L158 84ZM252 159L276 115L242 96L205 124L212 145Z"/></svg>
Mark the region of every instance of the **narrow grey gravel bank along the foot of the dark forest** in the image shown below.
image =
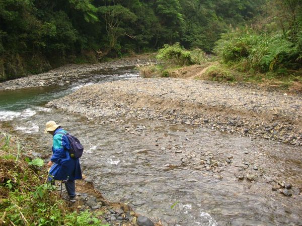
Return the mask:
<svg viewBox="0 0 302 226"><path fill-rule="evenodd" d="M150 59L151 58L151 59ZM0 83L0 91L2 90L14 90L30 87L46 87L46 86L63 86L73 81L77 81L79 78L85 78L92 72L106 70L106 69L118 69L131 66L143 66L149 65L154 62L155 59L149 54L138 55L135 57L128 57L124 59L118 59L114 61L104 62L100 64L87 64L77 65L68 64L46 73L30 75L14 80L9 80Z"/></svg>

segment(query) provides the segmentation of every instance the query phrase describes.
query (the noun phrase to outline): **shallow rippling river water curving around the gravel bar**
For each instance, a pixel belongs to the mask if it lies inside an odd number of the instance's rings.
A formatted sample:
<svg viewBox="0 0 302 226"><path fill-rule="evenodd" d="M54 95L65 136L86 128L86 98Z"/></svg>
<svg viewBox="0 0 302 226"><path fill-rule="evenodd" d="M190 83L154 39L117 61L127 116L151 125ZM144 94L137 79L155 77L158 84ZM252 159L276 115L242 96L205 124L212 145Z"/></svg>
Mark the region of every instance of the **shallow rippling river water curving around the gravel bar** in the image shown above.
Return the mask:
<svg viewBox="0 0 302 226"><path fill-rule="evenodd" d="M3 128L27 140L33 151L49 155L51 137L44 125L54 120L79 137L85 147L81 165L86 180L110 201L130 204L165 225L302 225L301 147L251 140L218 131L159 121L103 122L44 107L78 88L117 79L135 79L136 71L101 71L68 86L0 92ZM247 154L248 153L248 154ZM211 158L221 172L200 164ZM224 164L232 159L232 164ZM237 176L253 172L256 181ZM291 183L292 197L271 190L267 178Z"/></svg>

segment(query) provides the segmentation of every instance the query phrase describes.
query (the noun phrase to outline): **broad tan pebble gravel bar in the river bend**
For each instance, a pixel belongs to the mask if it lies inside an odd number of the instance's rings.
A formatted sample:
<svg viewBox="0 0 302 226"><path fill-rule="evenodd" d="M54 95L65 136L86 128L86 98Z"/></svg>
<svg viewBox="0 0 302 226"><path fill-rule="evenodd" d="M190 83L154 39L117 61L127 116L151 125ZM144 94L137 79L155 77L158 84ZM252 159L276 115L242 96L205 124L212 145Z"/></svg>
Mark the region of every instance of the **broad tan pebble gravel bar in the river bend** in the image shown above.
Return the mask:
<svg viewBox="0 0 302 226"><path fill-rule="evenodd" d="M174 78L136 79L83 87L48 106L102 122L163 120L302 144L301 96L260 88Z"/></svg>

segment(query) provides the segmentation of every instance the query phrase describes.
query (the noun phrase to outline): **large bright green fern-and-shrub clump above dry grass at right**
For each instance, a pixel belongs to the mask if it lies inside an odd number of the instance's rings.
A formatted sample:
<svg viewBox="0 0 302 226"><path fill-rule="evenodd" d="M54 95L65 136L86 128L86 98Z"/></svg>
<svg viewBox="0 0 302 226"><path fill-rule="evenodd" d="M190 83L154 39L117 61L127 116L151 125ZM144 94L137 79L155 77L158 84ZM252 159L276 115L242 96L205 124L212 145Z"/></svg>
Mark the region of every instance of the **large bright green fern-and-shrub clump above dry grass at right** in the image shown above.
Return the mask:
<svg viewBox="0 0 302 226"><path fill-rule="evenodd" d="M264 35L238 31L222 35L214 52L224 63L234 64L242 71L286 73L297 69L298 48L282 35Z"/></svg>

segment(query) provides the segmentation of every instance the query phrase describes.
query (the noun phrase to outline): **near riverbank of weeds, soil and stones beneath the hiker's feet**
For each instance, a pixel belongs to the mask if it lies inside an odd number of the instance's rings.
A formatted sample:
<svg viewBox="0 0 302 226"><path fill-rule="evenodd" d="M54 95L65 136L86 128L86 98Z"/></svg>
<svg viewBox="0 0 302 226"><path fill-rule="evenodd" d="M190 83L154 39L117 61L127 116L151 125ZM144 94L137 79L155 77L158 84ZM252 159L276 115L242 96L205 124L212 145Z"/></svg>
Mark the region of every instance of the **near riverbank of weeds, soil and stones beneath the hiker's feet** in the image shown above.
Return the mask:
<svg viewBox="0 0 302 226"><path fill-rule="evenodd" d="M147 217L127 204L106 200L92 183L76 181L76 202L63 201L66 190L61 183L47 181L41 155L15 136L0 131L0 221L4 225L72 224L149 226ZM37 161L36 161L37 160ZM84 176L85 177L85 176ZM29 199L30 198L30 199ZM29 202L30 200L30 202ZM17 207L17 215L14 209ZM148 222L149 224L147 224Z"/></svg>

